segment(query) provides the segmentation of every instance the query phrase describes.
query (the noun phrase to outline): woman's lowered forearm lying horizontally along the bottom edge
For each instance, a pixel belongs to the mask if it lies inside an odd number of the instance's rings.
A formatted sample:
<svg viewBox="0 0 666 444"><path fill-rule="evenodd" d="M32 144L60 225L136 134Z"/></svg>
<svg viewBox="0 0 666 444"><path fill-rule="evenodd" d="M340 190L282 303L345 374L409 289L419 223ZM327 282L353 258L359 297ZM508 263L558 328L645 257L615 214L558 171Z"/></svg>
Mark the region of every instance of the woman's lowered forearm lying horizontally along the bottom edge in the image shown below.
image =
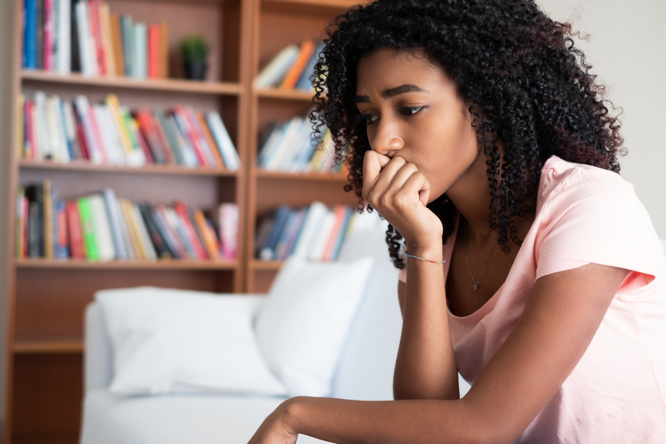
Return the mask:
<svg viewBox="0 0 666 444"><path fill-rule="evenodd" d="M349 401L296 397L282 415L294 433L338 444L480 443L488 435L472 423L463 399ZM282 407L282 406L281 406Z"/></svg>

